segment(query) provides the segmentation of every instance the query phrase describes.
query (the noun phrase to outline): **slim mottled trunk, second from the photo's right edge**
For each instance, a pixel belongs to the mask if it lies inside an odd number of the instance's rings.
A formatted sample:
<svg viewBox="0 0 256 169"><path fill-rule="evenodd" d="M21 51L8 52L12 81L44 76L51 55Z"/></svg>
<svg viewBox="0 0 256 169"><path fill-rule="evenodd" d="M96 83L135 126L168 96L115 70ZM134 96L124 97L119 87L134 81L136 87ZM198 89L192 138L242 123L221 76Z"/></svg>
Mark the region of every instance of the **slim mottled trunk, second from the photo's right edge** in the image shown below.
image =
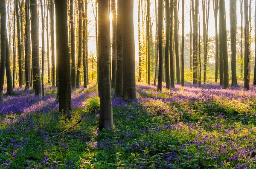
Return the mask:
<svg viewBox="0 0 256 169"><path fill-rule="evenodd" d="M248 0L244 0L244 88L250 87L250 37L248 20Z"/></svg>

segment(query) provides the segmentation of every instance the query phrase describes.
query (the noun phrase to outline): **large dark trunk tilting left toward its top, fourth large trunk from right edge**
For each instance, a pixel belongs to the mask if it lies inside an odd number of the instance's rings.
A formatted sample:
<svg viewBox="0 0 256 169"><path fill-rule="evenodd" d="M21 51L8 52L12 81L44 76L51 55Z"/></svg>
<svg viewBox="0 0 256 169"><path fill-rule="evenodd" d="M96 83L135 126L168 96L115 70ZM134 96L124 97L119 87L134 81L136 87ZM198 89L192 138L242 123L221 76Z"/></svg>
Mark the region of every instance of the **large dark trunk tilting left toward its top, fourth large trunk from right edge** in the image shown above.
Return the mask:
<svg viewBox="0 0 256 169"><path fill-rule="evenodd" d="M229 86L228 77L228 55L227 55L227 27L226 27L226 11L225 0L220 0L220 14L221 14L221 40L222 40L222 54L223 54L223 87L227 89Z"/></svg>

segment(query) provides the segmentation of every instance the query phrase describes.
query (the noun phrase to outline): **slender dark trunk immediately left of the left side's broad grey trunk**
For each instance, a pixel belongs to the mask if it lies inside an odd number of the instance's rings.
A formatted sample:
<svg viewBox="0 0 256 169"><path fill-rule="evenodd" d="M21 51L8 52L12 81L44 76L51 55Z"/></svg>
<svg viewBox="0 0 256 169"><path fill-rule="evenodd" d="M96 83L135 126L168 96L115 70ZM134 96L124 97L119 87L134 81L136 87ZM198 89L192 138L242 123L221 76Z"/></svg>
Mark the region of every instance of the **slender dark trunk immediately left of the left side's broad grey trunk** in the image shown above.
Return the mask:
<svg viewBox="0 0 256 169"><path fill-rule="evenodd" d="M29 90L29 0L25 6L25 90Z"/></svg>

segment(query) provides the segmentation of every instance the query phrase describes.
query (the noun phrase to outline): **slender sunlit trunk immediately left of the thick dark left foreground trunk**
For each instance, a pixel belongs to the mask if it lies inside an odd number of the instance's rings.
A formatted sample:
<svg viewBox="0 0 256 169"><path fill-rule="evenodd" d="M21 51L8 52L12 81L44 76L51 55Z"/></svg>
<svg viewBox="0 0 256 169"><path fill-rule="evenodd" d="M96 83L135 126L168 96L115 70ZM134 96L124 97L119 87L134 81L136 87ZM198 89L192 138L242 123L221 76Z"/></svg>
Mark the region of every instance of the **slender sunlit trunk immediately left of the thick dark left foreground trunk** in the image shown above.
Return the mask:
<svg viewBox="0 0 256 169"><path fill-rule="evenodd" d="M50 1L50 29L51 29L51 58L52 58L52 87L55 87L55 41L54 41L54 4L52 0Z"/></svg>

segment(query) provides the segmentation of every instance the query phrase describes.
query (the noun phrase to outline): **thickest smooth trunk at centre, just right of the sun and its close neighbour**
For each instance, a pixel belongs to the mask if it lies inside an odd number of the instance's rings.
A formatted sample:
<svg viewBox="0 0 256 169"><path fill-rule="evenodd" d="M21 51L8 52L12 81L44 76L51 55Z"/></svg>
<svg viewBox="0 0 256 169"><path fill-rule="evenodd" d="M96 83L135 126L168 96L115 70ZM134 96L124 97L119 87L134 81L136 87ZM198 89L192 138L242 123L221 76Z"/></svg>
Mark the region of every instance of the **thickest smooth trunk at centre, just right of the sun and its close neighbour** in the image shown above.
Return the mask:
<svg viewBox="0 0 256 169"><path fill-rule="evenodd" d="M123 1L123 98L137 98L135 82L134 1Z"/></svg>

